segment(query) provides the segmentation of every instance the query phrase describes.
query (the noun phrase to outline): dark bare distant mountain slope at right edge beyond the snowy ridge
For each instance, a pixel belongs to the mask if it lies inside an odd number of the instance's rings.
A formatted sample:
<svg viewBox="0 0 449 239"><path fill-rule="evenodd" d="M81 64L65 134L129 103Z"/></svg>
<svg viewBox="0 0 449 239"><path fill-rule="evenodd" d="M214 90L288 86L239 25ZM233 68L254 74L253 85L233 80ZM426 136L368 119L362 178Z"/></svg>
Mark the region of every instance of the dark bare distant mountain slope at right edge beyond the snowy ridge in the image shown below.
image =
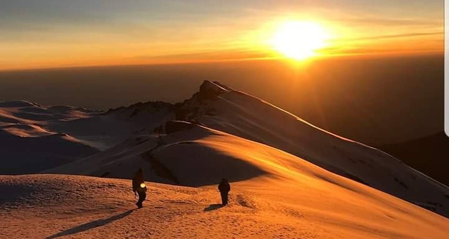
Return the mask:
<svg viewBox="0 0 449 239"><path fill-rule="evenodd" d="M449 185L449 137L444 132L378 148L424 174Z"/></svg>

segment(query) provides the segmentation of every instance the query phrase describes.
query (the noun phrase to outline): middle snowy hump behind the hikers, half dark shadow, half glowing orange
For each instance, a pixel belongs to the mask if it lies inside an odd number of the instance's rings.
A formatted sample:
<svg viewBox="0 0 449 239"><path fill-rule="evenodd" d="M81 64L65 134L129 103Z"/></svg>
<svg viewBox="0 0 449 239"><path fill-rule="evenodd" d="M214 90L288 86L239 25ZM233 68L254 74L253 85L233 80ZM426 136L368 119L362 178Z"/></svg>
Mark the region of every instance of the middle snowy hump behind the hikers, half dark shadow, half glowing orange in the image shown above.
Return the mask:
<svg viewBox="0 0 449 239"><path fill-rule="evenodd" d="M370 188L262 143L187 122L167 124L166 130L172 129L177 131L161 137L129 139L109 150L44 173L130 178L137 167L142 167L149 181L194 187L217 183L223 177L232 182L263 177L282 182L299 180L302 188L312 191L323 187L312 179L349 191ZM440 190L443 195L449 194L447 188ZM340 197L331 191L319 195ZM438 213L444 215L445 207L439 209L443 210Z"/></svg>

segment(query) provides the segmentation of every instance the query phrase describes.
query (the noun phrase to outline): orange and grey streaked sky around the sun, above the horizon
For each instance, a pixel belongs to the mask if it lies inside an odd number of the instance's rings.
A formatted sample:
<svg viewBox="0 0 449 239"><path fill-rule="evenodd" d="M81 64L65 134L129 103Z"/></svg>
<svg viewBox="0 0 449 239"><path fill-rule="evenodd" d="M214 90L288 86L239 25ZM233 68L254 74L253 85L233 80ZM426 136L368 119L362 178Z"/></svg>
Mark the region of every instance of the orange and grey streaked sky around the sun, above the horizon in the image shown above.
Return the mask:
<svg viewBox="0 0 449 239"><path fill-rule="evenodd" d="M0 0L0 70L282 57L283 22L329 33L321 56L443 51L442 0Z"/></svg>

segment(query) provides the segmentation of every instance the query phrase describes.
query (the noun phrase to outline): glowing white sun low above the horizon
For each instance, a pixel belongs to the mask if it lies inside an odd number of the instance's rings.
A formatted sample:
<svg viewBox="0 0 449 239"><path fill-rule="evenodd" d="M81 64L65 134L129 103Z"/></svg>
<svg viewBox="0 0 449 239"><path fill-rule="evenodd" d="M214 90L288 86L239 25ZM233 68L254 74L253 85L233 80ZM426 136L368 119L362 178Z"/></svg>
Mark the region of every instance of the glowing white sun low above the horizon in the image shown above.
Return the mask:
<svg viewBox="0 0 449 239"><path fill-rule="evenodd" d="M329 34L315 22L291 21L279 26L271 43L283 55L304 60L326 47Z"/></svg>

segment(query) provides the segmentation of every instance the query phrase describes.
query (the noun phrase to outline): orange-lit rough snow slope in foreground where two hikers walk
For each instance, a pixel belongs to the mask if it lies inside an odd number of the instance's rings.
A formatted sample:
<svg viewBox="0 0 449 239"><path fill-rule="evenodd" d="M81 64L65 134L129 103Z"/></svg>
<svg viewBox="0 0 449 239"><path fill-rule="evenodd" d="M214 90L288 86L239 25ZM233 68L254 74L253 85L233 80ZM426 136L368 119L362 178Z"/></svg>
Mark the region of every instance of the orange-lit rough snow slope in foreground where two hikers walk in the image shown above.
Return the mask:
<svg viewBox="0 0 449 239"><path fill-rule="evenodd" d="M216 148L227 144L207 141L217 143L211 146ZM194 188L147 182L144 208L136 210L130 180L0 176L0 190L9 192L0 195L0 235L47 239L445 239L449 234L445 217L305 161L299 165L304 169L292 170L299 173L295 178L260 176L231 183L230 203L225 207L219 204L216 185ZM283 169L273 169L277 170Z"/></svg>

